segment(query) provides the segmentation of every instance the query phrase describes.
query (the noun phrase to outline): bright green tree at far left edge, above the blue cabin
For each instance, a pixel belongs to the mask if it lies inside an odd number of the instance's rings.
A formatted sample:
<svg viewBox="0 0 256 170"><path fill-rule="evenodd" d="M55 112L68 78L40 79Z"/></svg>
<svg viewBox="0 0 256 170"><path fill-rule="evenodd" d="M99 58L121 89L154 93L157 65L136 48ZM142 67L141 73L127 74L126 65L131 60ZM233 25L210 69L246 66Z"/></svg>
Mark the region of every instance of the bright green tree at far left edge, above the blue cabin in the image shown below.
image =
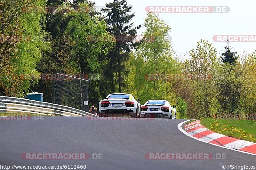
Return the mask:
<svg viewBox="0 0 256 170"><path fill-rule="evenodd" d="M1 36L10 37L0 43L1 94L23 97L39 72L35 69L41 52L49 49L44 40L45 15L28 11L29 6L45 6L45 0L8 1L0 3Z"/></svg>

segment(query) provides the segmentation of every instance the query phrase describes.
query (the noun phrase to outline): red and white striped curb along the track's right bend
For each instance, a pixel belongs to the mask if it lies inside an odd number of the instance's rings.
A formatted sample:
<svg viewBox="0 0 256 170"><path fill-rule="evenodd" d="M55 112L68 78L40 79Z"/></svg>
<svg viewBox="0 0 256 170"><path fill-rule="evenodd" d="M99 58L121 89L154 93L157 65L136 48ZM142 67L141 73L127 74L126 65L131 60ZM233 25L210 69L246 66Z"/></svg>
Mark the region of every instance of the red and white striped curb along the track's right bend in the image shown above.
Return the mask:
<svg viewBox="0 0 256 170"><path fill-rule="evenodd" d="M190 120L188 120L190 121ZM256 155L256 143L240 140L236 138L231 138L225 135L221 135L214 131L211 131L200 124L200 120L196 120L189 124L186 124L184 129L182 129L182 124L188 122L181 122L178 125L180 131L182 131L187 136L195 138L199 141L216 145L219 147L235 150L238 152L244 152L251 155Z"/></svg>

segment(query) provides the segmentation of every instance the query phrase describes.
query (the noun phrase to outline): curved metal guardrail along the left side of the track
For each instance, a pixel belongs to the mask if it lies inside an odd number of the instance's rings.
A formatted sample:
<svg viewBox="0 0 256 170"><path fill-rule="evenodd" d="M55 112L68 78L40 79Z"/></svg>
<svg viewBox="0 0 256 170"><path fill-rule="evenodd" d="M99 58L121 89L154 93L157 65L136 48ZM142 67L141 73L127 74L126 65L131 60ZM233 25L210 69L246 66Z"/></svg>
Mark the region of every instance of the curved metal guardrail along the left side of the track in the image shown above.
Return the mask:
<svg viewBox="0 0 256 170"><path fill-rule="evenodd" d="M91 113L58 104L38 102L24 98L0 96L0 112L32 113L58 116L93 116Z"/></svg>

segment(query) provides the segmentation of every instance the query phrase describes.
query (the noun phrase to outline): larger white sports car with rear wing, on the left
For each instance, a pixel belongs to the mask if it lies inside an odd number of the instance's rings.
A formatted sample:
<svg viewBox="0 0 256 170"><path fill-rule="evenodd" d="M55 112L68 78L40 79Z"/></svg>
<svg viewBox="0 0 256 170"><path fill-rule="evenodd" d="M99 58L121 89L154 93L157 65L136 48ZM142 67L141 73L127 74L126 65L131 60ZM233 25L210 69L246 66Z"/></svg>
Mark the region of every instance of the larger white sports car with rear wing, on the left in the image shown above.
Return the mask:
<svg viewBox="0 0 256 170"><path fill-rule="evenodd" d="M99 103L100 117L138 117L140 99L136 101L131 94L109 94Z"/></svg>

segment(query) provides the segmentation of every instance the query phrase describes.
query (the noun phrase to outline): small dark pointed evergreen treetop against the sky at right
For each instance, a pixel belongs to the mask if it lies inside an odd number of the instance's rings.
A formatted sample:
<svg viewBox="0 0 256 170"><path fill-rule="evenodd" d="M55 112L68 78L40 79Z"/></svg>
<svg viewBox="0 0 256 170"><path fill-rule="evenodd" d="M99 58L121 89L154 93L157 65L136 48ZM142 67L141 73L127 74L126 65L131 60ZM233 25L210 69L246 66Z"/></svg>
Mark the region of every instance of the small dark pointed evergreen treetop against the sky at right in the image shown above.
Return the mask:
<svg viewBox="0 0 256 170"><path fill-rule="evenodd" d="M235 65L238 56L236 56L237 52L234 52L232 50L233 47L229 46L229 40L227 39L228 42L228 46L225 47L226 51L224 53L222 53L222 58L221 60L225 63L225 62L229 62L231 65Z"/></svg>

